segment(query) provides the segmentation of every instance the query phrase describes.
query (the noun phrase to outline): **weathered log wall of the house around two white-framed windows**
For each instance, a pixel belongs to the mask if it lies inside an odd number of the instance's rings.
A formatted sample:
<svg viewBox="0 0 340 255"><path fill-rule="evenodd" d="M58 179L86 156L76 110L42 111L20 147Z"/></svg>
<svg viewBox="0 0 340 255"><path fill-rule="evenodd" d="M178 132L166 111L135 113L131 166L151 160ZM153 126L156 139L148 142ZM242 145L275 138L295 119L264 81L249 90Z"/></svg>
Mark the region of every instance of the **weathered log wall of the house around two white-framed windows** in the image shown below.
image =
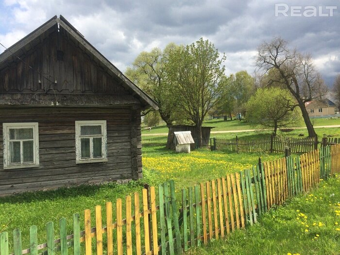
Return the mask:
<svg viewBox="0 0 340 255"><path fill-rule="evenodd" d="M108 161L76 164L75 121L106 120ZM3 169L0 135L0 195L142 176L140 106L126 107L7 107L2 123L38 122L40 166Z"/></svg>

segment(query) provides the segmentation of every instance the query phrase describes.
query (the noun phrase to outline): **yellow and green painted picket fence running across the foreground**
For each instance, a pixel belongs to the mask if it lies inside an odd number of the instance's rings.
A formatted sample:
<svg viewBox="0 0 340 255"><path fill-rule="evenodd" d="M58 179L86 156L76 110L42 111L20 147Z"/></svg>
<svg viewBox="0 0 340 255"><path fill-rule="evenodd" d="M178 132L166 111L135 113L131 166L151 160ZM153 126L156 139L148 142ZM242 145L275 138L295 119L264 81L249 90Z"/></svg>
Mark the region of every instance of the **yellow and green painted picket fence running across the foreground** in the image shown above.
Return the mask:
<svg viewBox="0 0 340 255"><path fill-rule="evenodd" d="M59 222L55 238L53 222L47 223L46 240L37 244L37 228L30 228L30 247L22 250L21 232L15 229L13 243L8 233L0 233L0 255L47 254L182 254L190 247L212 238L225 238L236 229L254 224L273 205L308 191L322 180L340 173L340 144L322 147L298 157L272 162L259 161L251 170L228 174L177 193L173 181L142 190L123 201L117 199L117 221L112 203L106 203L106 226L102 207L85 210L85 230L80 231L80 215L73 216L73 234L67 235L67 220ZM177 194L176 194L177 193ZM123 209L124 207L124 209ZM124 212L125 211L125 212Z"/></svg>

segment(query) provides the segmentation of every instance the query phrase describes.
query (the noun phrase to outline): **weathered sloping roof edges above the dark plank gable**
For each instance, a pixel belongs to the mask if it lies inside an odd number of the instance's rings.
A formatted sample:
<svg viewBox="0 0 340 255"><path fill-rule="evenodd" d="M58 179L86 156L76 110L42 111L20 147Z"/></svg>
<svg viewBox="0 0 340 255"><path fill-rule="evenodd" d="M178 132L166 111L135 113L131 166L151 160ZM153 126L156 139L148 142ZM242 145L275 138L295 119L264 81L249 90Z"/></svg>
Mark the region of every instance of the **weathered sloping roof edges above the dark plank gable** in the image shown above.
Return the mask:
<svg viewBox="0 0 340 255"><path fill-rule="evenodd" d="M107 72L116 77L119 81L121 81L121 85L126 87L132 92L132 95L139 99L142 106L147 108L148 106L153 107L155 110L158 110L157 103L141 88L135 85L132 81L130 81L118 68L116 68L107 58L105 58L101 52L99 52L95 47L93 47L82 34L78 32L63 16L60 15L52 17L50 20L45 22L43 25L35 29L32 33L28 34L17 43L9 47L7 50L0 54L0 69L7 66L8 62L13 61L18 56L20 56L23 52L25 52L26 48L34 47L34 44L37 44L41 40L41 37L47 37L49 32L55 25L59 25L62 27L70 37L75 39L79 45L84 48L86 53L92 55L94 59L96 59L99 63L102 64L107 69ZM33 45L33 46L32 46Z"/></svg>

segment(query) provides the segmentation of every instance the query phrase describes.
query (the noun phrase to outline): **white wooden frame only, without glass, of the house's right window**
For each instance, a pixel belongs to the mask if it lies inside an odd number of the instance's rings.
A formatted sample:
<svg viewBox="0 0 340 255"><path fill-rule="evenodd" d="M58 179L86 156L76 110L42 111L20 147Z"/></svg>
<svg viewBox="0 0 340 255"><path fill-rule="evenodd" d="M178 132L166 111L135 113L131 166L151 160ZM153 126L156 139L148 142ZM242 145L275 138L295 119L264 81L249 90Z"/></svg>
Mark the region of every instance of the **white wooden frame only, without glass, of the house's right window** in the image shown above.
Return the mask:
<svg viewBox="0 0 340 255"><path fill-rule="evenodd" d="M80 128L81 126L102 126L102 135L90 135L90 136L81 136ZM75 121L75 130L76 130L76 164L82 163L94 163L94 162L106 162L107 161L107 135L106 135L106 120L81 120ZM93 158L93 144L90 139L90 157L82 159L82 146L81 146L81 137L102 137L102 157L101 158Z"/></svg>

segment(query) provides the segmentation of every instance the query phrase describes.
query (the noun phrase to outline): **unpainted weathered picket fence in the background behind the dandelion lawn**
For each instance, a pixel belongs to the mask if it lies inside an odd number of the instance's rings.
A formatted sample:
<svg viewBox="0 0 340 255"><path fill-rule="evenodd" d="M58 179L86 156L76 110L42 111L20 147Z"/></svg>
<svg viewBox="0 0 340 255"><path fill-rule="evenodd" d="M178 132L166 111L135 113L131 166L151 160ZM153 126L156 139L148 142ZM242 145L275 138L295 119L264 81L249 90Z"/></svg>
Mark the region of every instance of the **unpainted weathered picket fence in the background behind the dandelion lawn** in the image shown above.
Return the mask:
<svg viewBox="0 0 340 255"><path fill-rule="evenodd" d="M258 140L211 138L211 150L226 150L243 153L285 153L289 148L291 153L307 153L317 149L318 138L293 138L285 136L271 136Z"/></svg>

